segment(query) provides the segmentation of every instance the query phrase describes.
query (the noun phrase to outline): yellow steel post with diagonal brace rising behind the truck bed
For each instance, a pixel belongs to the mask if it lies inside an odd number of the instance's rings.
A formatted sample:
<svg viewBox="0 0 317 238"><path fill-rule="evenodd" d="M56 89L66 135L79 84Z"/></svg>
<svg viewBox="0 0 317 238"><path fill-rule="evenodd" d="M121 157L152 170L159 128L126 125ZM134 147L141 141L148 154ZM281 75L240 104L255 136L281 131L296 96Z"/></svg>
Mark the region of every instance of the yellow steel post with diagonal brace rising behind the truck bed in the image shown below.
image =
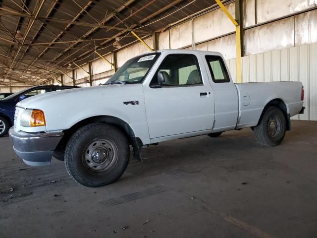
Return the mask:
<svg viewBox="0 0 317 238"><path fill-rule="evenodd" d="M242 83L242 70L241 70L241 28L238 22L233 18L227 8L221 3L220 0L216 0L222 11L227 15L230 21L236 27L236 81Z"/></svg>

